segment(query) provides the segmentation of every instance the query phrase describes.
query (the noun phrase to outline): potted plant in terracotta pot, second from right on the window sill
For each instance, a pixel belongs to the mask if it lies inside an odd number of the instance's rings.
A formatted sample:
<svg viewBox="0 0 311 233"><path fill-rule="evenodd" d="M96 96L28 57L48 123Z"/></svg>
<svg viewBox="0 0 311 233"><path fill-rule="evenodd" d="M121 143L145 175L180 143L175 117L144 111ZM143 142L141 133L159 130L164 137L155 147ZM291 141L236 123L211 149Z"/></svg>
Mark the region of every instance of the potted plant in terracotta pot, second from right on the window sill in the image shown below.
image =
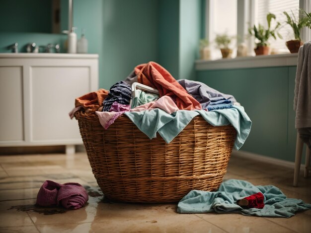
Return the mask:
<svg viewBox="0 0 311 233"><path fill-rule="evenodd" d="M269 54L269 43L268 40L272 36L276 39L276 35L282 39L282 36L278 33L280 29L280 22L276 23L274 28L271 28L271 20L276 20L274 14L268 13L267 14L267 22L268 28L264 28L263 25L258 24L258 28L254 25L253 28L249 28L248 32L250 35L255 36L255 38L259 41L256 43L256 48L254 49L256 56L257 55L268 55Z"/></svg>

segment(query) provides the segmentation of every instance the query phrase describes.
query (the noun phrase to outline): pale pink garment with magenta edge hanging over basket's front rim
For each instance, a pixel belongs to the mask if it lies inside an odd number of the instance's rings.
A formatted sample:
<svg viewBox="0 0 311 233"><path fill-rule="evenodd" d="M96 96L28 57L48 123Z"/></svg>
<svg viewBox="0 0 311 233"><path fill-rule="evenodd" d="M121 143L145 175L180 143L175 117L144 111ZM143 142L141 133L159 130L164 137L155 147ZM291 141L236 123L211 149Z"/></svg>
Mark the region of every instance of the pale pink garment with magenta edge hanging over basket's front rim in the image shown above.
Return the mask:
<svg viewBox="0 0 311 233"><path fill-rule="evenodd" d="M162 109L168 114L175 113L179 110L171 97L162 96L156 101L138 106L134 109L130 109L129 105L121 105L117 102L114 102L109 112L95 112L95 114L98 116L99 122L104 127L104 129L108 129L109 126L116 120L116 118L120 117L125 112L141 112L152 109Z"/></svg>

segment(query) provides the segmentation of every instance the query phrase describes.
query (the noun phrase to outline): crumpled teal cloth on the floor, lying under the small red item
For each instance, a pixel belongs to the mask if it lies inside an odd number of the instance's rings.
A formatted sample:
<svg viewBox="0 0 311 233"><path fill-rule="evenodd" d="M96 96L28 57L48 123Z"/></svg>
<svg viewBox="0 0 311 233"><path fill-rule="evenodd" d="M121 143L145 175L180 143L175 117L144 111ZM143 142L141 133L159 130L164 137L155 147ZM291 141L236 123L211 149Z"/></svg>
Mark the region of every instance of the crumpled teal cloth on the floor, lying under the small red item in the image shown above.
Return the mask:
<svg viewBox="0 0 311 233"><path fill-rule="evenodd" d="M264 195L264 208L243 209L236 201L257 192ZM229 179L224 181L216 192L192 190L178 203L177 212L194 213L240 213L260 217L289 218L298 211L310 210L311 204L303 200L287 198L284 193L273 185L254 186L248 181Z"/></svg>

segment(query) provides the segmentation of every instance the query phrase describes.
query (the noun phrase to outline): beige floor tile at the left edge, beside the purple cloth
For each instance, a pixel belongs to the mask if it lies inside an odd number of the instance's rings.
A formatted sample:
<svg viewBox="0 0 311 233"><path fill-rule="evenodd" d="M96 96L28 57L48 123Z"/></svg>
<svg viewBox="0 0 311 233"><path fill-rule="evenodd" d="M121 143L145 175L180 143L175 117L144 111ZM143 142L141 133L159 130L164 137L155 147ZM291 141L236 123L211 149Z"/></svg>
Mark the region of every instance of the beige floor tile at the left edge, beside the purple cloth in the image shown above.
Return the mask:
<svg viewBox="0 0 311 233"><path fill-rule="evenodd" d="M37 198L39 188L0 190L0 201Z"/></svg>

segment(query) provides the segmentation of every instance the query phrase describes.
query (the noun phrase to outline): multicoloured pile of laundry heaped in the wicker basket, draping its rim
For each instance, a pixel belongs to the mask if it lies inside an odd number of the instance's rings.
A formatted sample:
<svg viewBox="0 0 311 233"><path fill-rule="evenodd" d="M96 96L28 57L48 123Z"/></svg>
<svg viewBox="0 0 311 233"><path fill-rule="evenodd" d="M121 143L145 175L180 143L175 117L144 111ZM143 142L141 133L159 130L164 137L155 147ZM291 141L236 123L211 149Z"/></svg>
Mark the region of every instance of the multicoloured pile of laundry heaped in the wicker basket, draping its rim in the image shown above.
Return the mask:
<svg viewBox="0 0 311 233"><path fill-rule="evenodd" d="M76 111L95 112L104 129L122 114L150 139L158 133L171 142L193 117L201 115L213 126L233 125L235 149L245 142L251 120L232 95L187 79L176 80L156 62L136 66L131 74L109 91L99 89L76 99Z"/></svg>

